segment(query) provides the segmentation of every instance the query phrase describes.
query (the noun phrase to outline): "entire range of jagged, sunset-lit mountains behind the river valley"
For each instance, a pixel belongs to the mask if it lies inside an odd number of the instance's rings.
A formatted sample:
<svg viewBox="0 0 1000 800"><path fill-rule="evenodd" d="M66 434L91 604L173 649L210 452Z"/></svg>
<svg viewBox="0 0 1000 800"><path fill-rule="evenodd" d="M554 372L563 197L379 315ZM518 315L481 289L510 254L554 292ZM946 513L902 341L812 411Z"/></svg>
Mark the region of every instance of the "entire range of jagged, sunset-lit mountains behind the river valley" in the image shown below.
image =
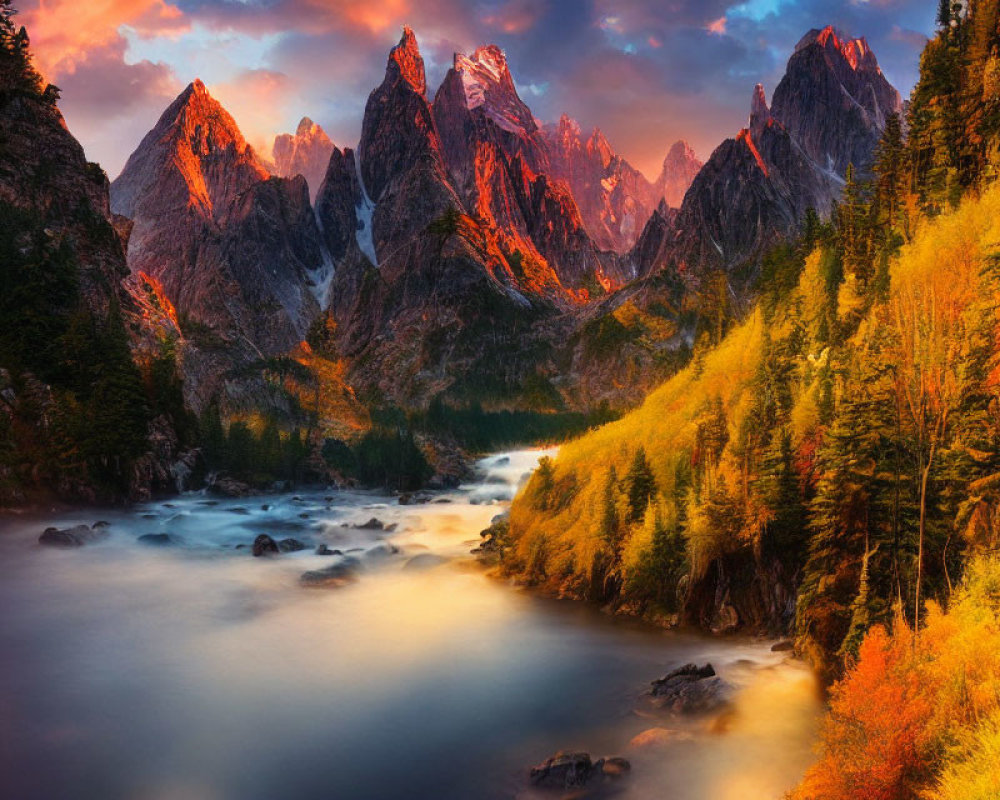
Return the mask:
<svg viewBox="0 0 1000 800"><path fill-rule="evenodd" d="M756 87L747 127L708 163L677 142L649 181L599 130L540 124L496 46L456 53L431 97L407 28L357 148L306 118L269 164L195 82L112 184L112 207L133 224L131 271L218 345L189 337L191 362L209 365L187 382L196 407L224 368L289 352L324 314L349 383L376 402L586 407L625 372L631 402L683 358L703 276L750 285L807 209L829 214L900 110L864 40L811 31L772 108ZM620 351L594 346L621 325Z"/></svg>

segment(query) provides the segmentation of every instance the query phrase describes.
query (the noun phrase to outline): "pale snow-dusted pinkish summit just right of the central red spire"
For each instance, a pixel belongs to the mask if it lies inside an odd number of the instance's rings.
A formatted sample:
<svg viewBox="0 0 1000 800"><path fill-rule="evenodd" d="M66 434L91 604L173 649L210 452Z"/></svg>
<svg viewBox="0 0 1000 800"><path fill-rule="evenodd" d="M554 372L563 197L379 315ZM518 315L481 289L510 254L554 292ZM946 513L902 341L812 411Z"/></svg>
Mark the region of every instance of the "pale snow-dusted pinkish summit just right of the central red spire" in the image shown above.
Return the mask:
<svg viewBox="0 0 1000 800"><path fill-rule="evenodd" d="M524 136L538 129L514 87L507 56L495 44L480 47L471 56L455 53L453 68L462 78L466 108L482 108L510 133Z"/></svg>

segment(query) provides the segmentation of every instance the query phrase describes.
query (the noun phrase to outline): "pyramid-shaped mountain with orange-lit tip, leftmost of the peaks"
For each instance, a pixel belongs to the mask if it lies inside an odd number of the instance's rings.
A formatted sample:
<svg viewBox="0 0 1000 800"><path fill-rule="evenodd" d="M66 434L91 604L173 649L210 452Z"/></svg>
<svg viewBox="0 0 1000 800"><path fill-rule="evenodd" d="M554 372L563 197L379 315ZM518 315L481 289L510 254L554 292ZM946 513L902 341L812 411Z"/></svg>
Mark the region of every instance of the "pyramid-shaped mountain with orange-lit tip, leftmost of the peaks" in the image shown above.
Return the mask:
<svg viewBox="0 0 1000 800"><path fill-rule="evenodd" d="M306 181L270 177L200 81L130 156L111 198L132 223L131 272L162 286L196 345L196 408L234 364L302 340L330 279Z"/></svg>

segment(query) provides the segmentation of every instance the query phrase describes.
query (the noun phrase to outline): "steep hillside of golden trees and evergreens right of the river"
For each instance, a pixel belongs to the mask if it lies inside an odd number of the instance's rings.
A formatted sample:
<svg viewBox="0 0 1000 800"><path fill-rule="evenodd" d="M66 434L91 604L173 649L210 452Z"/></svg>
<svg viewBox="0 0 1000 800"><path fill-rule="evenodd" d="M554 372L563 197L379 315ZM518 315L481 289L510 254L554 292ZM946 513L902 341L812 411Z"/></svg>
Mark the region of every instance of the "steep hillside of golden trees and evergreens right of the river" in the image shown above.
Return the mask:
<svg viewBox="0 0 1000 800"><path fill-rule="evenodd" d="M998 9L942 9L871 181L764 259L721 345L535 474L495 531L509 573L793 630L831 677L872 625L947 602L995 545Z"/></svg>

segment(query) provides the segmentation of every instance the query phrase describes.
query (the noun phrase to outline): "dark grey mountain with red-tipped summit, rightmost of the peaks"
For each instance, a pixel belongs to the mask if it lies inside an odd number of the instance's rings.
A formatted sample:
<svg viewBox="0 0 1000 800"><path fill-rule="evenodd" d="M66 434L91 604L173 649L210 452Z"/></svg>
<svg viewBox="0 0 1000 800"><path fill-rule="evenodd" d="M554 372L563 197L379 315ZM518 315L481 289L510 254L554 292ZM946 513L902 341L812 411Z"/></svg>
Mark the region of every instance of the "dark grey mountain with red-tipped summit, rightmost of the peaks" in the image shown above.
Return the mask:
<svg viewBox="0 0 1000 800"><path fill-rule="evenodd" d="M666 231L657 220L637 266L640 273L674 263L692 275L752 267L776 241L797 233L807 209L830 212L849 164L871 163L886 116L901 109L863 39L832 28L799 43L768 107L755 87L746 128L723 142L684 197ZM633 257L639 257L633 253Z"/></svg>

